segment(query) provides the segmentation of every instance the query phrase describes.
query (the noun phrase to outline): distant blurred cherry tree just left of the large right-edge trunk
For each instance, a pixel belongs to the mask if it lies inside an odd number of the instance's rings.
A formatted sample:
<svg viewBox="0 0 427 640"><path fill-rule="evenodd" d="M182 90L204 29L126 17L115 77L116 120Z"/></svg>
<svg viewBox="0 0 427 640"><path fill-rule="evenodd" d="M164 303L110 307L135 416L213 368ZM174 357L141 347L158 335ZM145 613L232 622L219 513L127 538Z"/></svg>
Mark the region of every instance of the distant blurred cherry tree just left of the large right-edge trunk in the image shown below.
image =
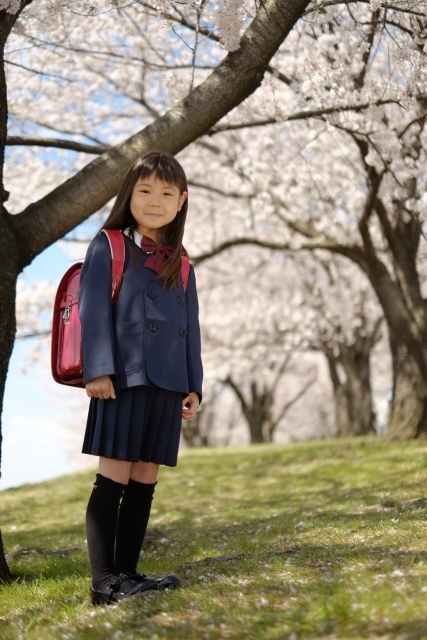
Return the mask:
<svg viewBox="0 0 427 640"><path fill-rule="evenodd" d="M304 307L311 310L309 344L327 359L335 400L335 434L375 432L371 356L383 315L369 281L340 256L298 256ZM304 259L305 258L305 259Z"/></svg>

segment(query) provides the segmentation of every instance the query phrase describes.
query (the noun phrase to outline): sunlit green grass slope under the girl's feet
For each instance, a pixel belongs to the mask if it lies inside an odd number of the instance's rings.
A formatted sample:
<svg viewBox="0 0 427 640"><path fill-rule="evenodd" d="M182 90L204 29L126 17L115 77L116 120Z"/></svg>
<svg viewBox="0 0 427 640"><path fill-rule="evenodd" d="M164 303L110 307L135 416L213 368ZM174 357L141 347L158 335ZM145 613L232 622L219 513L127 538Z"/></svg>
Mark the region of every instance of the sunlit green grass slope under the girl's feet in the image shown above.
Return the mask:
<svg viewBox="0 0 427 640"><path fill-rule="evenodd" d="M427 639L427 450L325 440L184 452L140 569L182 587L89 605L93 472L0 494L0 638Z"/></svg>

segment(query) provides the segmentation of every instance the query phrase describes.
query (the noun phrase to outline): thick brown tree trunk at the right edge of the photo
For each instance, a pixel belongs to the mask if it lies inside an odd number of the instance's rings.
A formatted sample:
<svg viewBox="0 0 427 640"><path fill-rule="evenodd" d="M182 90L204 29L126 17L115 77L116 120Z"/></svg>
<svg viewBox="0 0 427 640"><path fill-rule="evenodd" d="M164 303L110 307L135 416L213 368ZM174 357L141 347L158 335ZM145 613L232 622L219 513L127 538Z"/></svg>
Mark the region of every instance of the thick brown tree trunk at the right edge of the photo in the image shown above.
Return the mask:
<svg viewBox="0 0 427 640"><path fill-rule="evenodd" d="M420 101L420 114L425 110L425 102ZM403 158L405 154L419 158L424 126L425 117L419 121L418 131L412 130L411 141L407 140L403 145ZM366 158L366 141L358 144ZM381 174L373 167L369 167L368 173L370 195L359 231L364 244L366 273L387 320L393 359L393 398L386 437L387 440L404 440L425 435L427 430L427 306L417 270L422 223L417 213L405 211L405 201L419 197L421 190L418 192L415 178L407 179L405 194L401 200L394 201L394 211L391 211L378 195ZM369 206L377 214L387 242L394 278L374 247L369 230Z"/></svg>

